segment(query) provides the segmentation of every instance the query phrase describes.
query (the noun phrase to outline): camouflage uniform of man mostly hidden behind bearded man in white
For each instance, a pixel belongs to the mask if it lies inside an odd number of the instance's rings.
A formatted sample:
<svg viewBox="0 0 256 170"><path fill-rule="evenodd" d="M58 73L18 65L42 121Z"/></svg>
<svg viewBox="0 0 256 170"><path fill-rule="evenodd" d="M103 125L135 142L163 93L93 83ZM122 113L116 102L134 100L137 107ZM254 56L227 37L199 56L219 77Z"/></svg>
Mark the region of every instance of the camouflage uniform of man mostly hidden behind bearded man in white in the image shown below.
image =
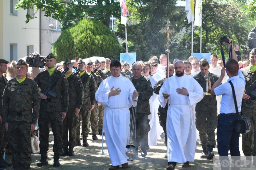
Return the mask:
<svg viewBox="0 0 256 170"><path fill-rule="evenodd" d="M155 85L155 87L154 87L154 89L153 89L153 91L154 91L155 94L159 95L159 90L160 90L160 88L162 87L163 82L165 82L166 79L167 79L167 78L164 78L164 79L162 79L162 80L159 80L159 81L156 83L156 85ZM158 112L157 112L158 117L159 117L159 123L160 123L160 125L161 125L162 128L163 128L163 132L165 132L165 145L166 145L166 146L167 146L167 132L166 132L167 110L168 110L168 105L166 105L166 106L163 108L163 107L161 106L161 104L160 104L159 107L158 107Z"/></svg>

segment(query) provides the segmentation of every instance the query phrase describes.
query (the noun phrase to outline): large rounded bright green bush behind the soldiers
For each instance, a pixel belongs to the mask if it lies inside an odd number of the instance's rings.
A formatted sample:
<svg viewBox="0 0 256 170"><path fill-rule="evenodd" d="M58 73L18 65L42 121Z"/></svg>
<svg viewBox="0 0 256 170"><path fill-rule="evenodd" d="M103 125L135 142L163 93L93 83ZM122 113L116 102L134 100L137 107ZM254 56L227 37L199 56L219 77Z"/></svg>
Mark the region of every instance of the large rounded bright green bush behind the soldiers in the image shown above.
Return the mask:
<svg viewBox="0 0 256 170"><path fill-rule="evenodd" d="M75 26L63 30L53 44L53 53L58 62L74 56L114 58L122 50L124 49L118 43L116 36L97 19L84 19Z"/></svg>

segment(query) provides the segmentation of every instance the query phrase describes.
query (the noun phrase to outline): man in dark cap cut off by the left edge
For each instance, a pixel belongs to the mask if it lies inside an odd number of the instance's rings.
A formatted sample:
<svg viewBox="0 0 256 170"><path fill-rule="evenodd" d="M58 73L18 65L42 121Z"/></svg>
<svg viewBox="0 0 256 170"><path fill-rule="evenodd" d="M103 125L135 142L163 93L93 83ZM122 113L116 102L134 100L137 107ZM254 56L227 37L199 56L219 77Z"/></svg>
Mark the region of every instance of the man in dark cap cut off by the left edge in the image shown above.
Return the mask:
<svg viewBox="0 0 256 170"><path fill-rule="evenodd" d="M7 70L7 64L9 62L0 59L0 111L2 111L2 96L3 96L3 90L7 84L7 79L3 76L4 73L6 73ZM9 136L6 130L4 129L4 123L2 123L2 118L3 118L3 113L0 112L0 168L5 168L8 166L12 166L12 164L9 164L5 162L3 159L3 154L4 154L4 148L9 142Z"/></svg>

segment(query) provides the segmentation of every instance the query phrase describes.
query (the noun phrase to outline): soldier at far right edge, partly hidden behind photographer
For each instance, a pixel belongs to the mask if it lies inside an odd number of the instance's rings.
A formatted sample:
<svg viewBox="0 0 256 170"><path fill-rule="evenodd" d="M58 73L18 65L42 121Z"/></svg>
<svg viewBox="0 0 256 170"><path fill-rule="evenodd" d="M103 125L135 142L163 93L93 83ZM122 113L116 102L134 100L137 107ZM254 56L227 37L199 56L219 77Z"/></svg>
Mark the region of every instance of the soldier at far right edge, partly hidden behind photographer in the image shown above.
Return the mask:
<svg viewBox="0 0 256 170"><path fill-rule="evenodd" d="M245 78L245 91L256 80L256 48L250 52L249 60L251 64L241 69ZM245 100L242 101L242 114L244 117L250 118L253 129L243 134L243 153L245 156L256 156L256 97L244 94L243 99Z"/></svg>

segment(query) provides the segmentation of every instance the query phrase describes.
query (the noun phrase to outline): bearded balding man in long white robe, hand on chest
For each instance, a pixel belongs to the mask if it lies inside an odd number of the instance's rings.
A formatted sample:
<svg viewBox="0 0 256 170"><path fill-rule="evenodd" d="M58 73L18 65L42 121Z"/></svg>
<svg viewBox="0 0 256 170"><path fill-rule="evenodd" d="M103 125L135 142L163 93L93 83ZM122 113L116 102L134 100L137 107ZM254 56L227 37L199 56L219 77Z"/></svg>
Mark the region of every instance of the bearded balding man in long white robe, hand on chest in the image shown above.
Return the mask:
<svg viewBox="0 0 256 170"><path fill-rule="evenodd" d="M185 75L184 63L176 61L175 76L168 78L159 91L159 101L165 107L163 94L170 94L167 112L167 170L173 170L176 163L188 167L194 162L196 151L196 125L194 105L203 98L203 89L198 82Z"/></svg>

